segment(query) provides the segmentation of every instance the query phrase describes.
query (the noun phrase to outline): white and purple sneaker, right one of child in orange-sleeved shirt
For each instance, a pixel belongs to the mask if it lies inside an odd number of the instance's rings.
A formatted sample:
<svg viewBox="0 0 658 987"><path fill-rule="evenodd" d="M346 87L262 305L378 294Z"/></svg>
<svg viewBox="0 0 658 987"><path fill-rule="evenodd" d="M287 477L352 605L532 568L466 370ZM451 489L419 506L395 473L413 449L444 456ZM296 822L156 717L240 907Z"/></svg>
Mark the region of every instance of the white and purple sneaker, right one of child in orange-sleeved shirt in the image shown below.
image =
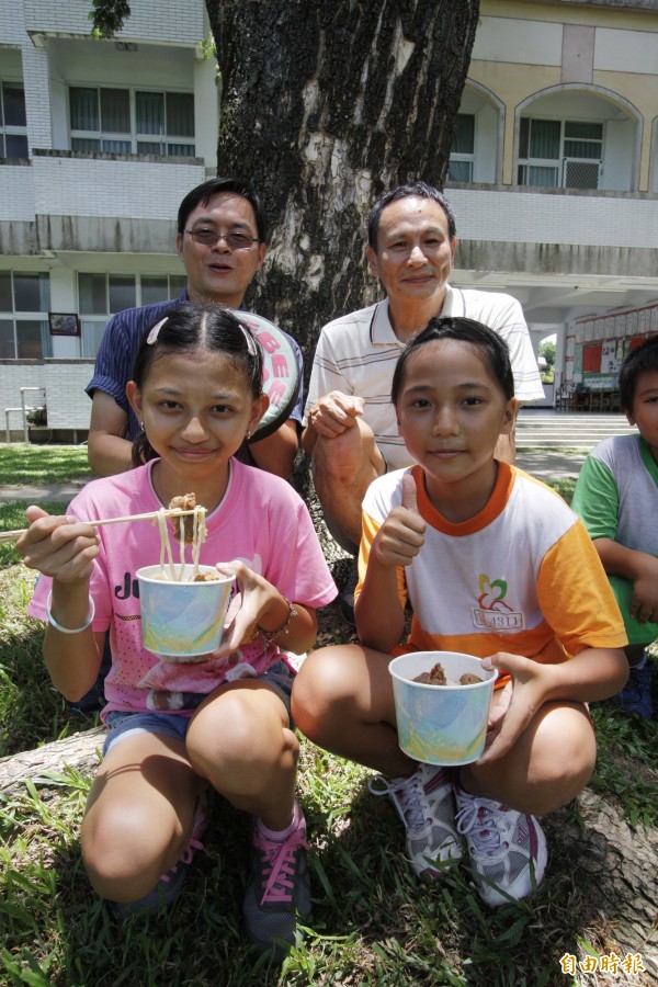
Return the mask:
<svg viewBox="0 0 658 987"><path fill-rule="evenodd" d="M520 900L542 882L548 853L534 816L456 790L457 829L466 838L479 896L491 908Z"/></svg>

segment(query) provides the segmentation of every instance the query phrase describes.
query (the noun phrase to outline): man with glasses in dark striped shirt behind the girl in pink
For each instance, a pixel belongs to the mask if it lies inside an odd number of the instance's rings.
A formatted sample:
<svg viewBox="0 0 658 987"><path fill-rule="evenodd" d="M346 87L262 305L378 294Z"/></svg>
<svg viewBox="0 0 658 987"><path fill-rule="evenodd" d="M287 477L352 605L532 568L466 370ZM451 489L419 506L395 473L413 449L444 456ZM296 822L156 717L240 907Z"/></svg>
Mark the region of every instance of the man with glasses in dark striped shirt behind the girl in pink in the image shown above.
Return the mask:
<svg viewBox="0 0 658 987"><path fill-rule="evenodd" d="M181 297L117 313L101 340L94 375L86 388L92 398L88 447L95 474L110 476L132 466L131 447L140 424L125 390L145 329L185 300L240 308L265 258L266 232L260 202L243 182L212 179L183 198L177 248L188 284ZM293 472L303 409L302 352L294 339L287 340L298 365L297 401L287 420L243 454L246 462L286 479Z"/></svg>

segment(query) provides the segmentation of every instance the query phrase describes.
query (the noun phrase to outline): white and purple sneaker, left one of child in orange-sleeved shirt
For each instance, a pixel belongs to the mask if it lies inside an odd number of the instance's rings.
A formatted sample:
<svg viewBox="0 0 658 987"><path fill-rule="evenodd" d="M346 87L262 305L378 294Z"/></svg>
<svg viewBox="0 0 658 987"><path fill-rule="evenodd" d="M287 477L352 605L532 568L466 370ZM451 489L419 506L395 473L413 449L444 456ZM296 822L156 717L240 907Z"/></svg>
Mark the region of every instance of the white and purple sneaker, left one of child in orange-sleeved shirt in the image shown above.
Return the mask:
<svg viewBox="0 0 658 987"><path fill-rule="evenodd" d="M373 795L389 795L407 829L407 851L419 877L441 877L462 859L455 828L455 802L450 773L419 764L409 778L371 778Z"/></svg>

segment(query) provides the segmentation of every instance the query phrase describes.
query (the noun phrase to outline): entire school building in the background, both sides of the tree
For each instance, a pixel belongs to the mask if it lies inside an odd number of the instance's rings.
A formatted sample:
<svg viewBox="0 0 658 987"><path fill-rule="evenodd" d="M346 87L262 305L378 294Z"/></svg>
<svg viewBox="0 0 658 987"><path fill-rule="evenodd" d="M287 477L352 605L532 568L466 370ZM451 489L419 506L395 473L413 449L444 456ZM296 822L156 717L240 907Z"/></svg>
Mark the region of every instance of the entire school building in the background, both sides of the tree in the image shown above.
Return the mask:
<svg viewBox="0 0 658 987"><path fill-rule="evenodd" d="M0 7L8 435L41 421L84 438L104 325L180 293L178 206L217 171L203 0L131 8L105 42L89 36L91 3ZM658 332L656 13L655 0L481 0L446 183L454 283L519 298L535 350L556 334L548 406L576 385L612 405L624 352Z"/></svg>

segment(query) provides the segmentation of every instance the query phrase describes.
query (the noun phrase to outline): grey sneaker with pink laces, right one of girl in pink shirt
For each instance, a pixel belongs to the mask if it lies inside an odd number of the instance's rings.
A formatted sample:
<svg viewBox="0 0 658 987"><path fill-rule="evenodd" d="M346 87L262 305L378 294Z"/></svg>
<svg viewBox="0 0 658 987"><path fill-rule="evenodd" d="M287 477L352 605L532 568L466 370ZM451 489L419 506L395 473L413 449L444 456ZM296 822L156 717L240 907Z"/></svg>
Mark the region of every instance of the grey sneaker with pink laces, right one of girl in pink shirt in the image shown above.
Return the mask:
<svg viewBox="0 0 658 987"><path fill-rule="evenodd" d="M242 916L250 942L272 958L302 943L298 919L310 916L310 878L306 861L306 820L295 803L293 825L282 840L263 831L258 819L251 831L251 860Z"/></svg>

